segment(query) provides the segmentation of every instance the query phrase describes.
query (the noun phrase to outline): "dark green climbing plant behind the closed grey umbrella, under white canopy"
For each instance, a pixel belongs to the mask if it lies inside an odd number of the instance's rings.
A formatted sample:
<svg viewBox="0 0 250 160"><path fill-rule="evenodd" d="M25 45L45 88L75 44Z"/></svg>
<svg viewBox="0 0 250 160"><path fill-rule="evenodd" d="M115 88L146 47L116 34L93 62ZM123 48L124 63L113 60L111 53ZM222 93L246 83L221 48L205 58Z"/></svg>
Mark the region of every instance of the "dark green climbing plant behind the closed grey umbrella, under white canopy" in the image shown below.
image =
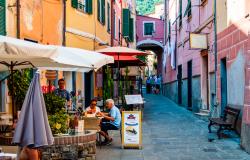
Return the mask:
<svg viewBox="0 0 250 160"><path fill-rule="evenodd" d="M8 79L8 88L11 96L14 96L15 108L21 110L26 93L32 79L32 70L24 69L13 73L13 83L11 76Z"/></svg>

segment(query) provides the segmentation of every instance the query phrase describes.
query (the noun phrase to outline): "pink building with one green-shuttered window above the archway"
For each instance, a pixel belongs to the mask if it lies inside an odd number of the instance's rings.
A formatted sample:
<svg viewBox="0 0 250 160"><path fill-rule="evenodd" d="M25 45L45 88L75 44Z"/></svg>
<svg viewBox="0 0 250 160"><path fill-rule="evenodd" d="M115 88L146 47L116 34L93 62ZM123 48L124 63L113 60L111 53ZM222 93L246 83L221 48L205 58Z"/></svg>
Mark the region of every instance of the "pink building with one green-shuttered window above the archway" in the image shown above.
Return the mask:
<svg viewBox="0 0 250 160"><path fill-rule="evenodd" d="M164 21L147 16L136 16L137 48L152 50L157 55L157 72L162 72L162 53L164 50Z"/></svg>

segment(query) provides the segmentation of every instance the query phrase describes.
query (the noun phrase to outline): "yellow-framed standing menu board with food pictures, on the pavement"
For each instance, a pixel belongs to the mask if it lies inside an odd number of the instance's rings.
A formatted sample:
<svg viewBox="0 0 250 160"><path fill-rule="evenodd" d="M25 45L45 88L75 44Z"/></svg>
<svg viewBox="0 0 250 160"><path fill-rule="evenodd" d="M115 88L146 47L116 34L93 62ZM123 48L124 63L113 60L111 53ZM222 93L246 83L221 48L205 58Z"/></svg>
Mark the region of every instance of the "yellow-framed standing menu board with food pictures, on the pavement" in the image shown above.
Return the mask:
<svg viewBox="0 0 250 160"><path fill-rule="evenodd" d="M142 123L140 111L122 112L122 148L142 146Z"/></svg>

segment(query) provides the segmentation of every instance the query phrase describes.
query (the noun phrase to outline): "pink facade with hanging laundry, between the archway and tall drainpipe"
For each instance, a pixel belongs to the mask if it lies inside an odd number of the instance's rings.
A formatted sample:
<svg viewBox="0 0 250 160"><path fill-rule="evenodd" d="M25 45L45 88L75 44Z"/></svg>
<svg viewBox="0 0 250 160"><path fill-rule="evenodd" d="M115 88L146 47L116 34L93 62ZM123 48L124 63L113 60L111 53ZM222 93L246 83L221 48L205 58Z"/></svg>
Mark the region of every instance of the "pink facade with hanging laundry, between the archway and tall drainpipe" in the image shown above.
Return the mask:
<svg viewBox="0 0 250 160"><path fill-rule="evenodd" d="M167 1L164 95L194 112L209 110L214 94L213 3ZM182 3L182 4L180 4ZM190 48L190 33L206 34L208 50Z"/></svg>

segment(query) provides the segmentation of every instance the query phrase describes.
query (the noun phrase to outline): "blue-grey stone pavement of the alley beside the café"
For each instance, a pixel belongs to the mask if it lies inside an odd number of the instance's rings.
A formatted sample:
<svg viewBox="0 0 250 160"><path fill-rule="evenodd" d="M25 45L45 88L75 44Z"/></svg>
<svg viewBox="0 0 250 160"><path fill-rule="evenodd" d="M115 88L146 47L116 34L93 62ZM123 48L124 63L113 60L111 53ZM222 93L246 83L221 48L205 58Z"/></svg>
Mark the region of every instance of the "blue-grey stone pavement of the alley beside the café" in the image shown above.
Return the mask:
<svg viewBox="0 0 250 160"><path fill-rule="evenodd" d="M250 160L238 137L208 142L207 122L163 96L145 99L143 149L122 150L112 131L114 143L98 148L97 160Z"/></svg>

